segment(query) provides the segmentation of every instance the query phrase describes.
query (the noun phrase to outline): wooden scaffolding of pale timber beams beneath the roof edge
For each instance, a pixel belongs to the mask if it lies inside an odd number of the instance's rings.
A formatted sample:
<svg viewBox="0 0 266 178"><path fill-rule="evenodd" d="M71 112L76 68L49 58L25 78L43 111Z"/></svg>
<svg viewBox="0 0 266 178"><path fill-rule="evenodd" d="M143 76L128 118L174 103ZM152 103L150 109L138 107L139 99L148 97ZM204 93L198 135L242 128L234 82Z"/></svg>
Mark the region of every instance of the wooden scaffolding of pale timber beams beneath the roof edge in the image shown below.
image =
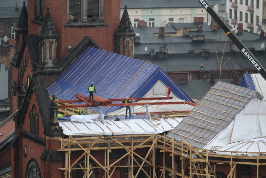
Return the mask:
<svg viewBox="0 0 266 178"><path fill-rule="evenodd" d="M237 151L230 151L230 154L215 153L215 150L204 150L191 146L185 140L177 142L167 138L165 135L118 135L118 136L99 136L74 138L69 136L67 139L60 139L61 149L65 152L65 167L60 168L64 171L65 177L71 177L71 171L83 170L84 178L92 175L95 169L104 171L103 177L114 177L117 168L127 168L128 177L135 178L140 171L145 173L147 178L183 177L183 178L217 178L216 166L229 165L230 171L227 178L236 178L236 165L254 165L257 167L256 177L259 178L259 170L266 167L266 153L256 152L257 156L235 155ZM145 156L136 152L140 148L145 148ZM115 149L123 149L124 154L111 163L110 153ZM97 160L91 154L93 150L103 150L104 160ZM75 151L82 151L78 158L71 157ZM224 151L225 153L226 151ZM162 160L156 160L156 153L161 153ZM243 152L248 154L248 152ZM136 160L138 158L138 161ZM127 159L126 159L127 158ZM179 171L176 169L175 159L179 158L181 165ZM85 164L74 167L81 159ZM93 166L89 160L93 160L98 166ZM118 165L119 161L126 159L125 165ZM171 160L171 165L166 166L166 161ZM259 169L260 168L260 169ZM133 170L135 169L135 173ZM137 170L137 171L136 171ZM187 171L186 171L187 170Z"/></svg>

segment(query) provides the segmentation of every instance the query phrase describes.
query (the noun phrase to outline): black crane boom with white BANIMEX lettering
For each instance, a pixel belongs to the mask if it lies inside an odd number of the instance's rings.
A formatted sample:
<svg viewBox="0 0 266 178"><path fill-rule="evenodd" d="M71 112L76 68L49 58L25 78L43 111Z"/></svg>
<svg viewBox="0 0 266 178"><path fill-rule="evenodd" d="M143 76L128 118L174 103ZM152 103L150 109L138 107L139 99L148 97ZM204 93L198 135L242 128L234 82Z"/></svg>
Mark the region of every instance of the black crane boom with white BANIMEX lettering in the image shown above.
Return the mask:
<svg viewBox="0 0 266 178"><path fill-rule="evenodd" d="M241 51L245 58L254 66L254 68L261 74L261 76L266 80L266 70L260 64L260 62L255 58L255 56L249 51L249 49L242 43L242 41L236 36L235 33L232 33L232 30L226 25L222 18L219 17L219 14L214 10L208 0L198 0L199 3L206 9L206 11L212 16L212 18L219 24L219 26L224 30L226 35L231 39L237 48Z"/></svg>

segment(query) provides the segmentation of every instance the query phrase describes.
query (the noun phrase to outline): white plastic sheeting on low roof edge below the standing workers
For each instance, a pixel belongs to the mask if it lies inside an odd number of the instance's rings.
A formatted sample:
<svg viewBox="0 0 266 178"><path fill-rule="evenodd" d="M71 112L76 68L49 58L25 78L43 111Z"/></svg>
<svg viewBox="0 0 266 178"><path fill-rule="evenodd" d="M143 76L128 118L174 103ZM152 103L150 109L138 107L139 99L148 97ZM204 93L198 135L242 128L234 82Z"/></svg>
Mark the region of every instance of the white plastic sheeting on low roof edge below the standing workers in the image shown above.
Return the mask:
<svg viewBox="0 0 266 178"><path fill-rule="evenodd" d="M65 135L141 135L159 134L172 130L183 120L183 118L161 118L152 120L150 123L150 120L140 118L119 121L105 119L106 125L104 125L97 115L74 116L71 121L59 122L59 126L62 127Z"/></svg>

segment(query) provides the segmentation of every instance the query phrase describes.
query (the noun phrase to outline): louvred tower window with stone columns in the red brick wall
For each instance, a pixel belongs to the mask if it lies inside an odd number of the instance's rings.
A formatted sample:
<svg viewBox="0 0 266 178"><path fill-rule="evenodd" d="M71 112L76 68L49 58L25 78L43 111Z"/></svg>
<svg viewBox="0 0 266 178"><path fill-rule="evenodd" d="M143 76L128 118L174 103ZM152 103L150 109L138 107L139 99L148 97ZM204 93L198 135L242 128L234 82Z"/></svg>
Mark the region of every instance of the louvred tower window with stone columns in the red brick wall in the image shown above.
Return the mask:
<svg viewBox="0 0 266 178"><path fill-rule="evenodd" d="M67 0L67 20L70 22L104 23L103 0Z"/></svg>

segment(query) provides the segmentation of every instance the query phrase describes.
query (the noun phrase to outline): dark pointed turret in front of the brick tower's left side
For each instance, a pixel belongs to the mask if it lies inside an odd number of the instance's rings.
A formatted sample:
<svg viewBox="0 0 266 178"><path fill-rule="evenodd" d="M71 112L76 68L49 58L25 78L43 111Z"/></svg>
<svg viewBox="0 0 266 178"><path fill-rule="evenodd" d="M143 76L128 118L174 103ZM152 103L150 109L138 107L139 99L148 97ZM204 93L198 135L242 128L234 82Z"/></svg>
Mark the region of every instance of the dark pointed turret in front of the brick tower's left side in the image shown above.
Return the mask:
<svg viewBox="0 0 266 178"><path fill-rule="evenodd" d="M52 16L47 7L47 12L42 24L41 31L38 35L40 37L40 60L41 65L45 68L51 68L57 65L57 37L55 25L52 20Z"/></svg>

